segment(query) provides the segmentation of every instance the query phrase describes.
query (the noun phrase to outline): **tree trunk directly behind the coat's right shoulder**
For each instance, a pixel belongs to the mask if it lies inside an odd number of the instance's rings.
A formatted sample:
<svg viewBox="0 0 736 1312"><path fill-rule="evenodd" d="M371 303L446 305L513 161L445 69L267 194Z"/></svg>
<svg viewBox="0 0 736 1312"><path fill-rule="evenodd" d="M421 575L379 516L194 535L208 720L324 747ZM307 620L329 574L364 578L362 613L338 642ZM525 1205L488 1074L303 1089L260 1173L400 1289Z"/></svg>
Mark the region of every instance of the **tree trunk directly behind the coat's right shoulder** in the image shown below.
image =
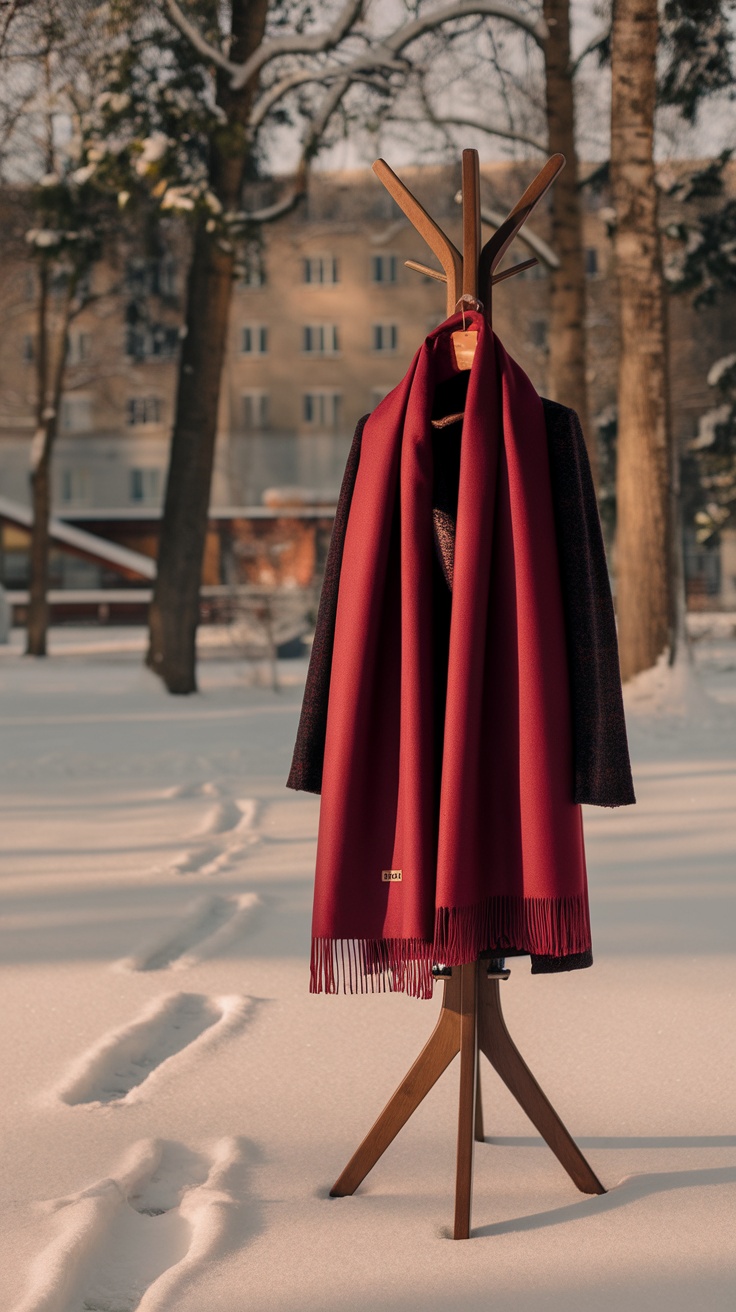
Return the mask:
<svg viewBox="0 0 736 1312"><path fill-rule="evenodd" d="M569 0L544 0L550 35L544 42L544 73L550 154L567 164L551 192L551 244L559 269L550 270L550 357L547 395L577 411L590 467L598 482L598 450L588 415L588 350L585 337L585 253L583 206L575 144L575 92L569 56Z"/></svg>

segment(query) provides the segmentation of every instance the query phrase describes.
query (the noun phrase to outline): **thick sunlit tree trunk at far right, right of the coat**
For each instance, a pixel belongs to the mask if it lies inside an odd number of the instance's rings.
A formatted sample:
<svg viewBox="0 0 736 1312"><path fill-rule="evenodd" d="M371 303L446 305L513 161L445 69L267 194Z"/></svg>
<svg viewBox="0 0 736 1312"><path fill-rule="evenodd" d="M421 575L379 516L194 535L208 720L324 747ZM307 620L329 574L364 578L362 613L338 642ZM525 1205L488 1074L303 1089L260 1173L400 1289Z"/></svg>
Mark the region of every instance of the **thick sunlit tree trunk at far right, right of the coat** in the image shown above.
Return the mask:
<svg viewBox="0 0 736 1312"><path fill-rule="evenodd" d="M653 164L657 0L614 0L611 186L621 356L617 606L624 680L670 636L670 434Z"/></svg>

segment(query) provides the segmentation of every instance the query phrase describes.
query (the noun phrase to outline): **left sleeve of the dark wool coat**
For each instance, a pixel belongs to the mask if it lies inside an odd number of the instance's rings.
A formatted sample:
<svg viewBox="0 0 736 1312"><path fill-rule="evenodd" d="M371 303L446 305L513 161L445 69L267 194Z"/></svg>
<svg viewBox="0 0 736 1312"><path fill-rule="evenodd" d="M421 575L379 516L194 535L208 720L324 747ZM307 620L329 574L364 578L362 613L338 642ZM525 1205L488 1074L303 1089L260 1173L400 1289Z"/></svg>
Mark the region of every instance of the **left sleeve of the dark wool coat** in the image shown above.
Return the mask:
<svg viewBox="0 0 736 1312"><path fill-rule="evenodd" d="M291 770L286 781L287 789L302 789L304 792L321 792L321 768L327 736L327 703L329 701L329 676L332 670L340 568L342 565L345 530L348 527L350 501L353 500L353 488L361 459L361 438L366 419L367 415L358 421L342 476L337 510L335 512L312 655L304 686L304 701L302 702L302 715L296 731L296 743L294 744Z"/></svg>

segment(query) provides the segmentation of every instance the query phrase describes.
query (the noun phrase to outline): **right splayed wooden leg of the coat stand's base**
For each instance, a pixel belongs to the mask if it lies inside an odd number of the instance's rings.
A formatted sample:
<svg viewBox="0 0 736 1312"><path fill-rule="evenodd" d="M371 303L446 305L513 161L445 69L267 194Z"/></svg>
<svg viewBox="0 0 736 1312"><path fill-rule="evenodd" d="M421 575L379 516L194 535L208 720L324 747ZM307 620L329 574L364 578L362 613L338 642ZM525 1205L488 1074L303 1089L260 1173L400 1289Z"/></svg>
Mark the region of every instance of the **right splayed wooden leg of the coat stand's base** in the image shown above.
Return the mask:
<svg viewBox="0 0 736 1312"><path fill-rule="evenodd" d="M605 1194L601 1181L516 1047L501 1012L499 980L488 979L483 968L478 981L478 1043L581 1193Z"/></svg>

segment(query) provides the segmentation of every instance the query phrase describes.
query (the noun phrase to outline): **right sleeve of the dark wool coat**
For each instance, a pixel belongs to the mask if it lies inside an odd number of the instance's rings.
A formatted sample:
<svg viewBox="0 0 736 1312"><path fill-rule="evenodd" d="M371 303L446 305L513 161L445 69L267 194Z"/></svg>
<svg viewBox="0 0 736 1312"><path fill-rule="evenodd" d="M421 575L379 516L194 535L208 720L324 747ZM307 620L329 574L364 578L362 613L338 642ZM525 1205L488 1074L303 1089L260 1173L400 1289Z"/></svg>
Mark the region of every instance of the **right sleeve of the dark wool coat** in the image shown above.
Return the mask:
<svg viewBox="0 0 736 1312"><path fill-rule="evenodd" d="M544 400L573 722L575 800L635 802L615 617L596 489L575 411Z"/></svg>

